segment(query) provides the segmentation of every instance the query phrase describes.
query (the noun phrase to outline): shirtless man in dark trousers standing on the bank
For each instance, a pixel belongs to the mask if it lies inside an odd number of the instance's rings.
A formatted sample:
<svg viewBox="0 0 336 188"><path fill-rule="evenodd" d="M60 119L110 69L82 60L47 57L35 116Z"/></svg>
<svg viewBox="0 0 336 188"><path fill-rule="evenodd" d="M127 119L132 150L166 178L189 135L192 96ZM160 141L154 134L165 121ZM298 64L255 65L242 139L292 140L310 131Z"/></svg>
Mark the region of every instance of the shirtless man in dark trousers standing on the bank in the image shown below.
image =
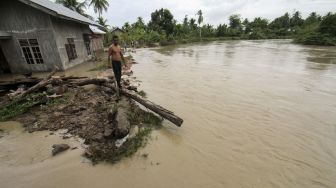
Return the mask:
<svg viewBox="0 0 336 188"><path fill-rule="evenodd" d="M121 52L118 36L113 36L113 43L108 50L108 62L110 63L110 57L112 56L112 68L114 77L117 81L118 88L121 89L121 60L125 63L124 56Z"/></svg>

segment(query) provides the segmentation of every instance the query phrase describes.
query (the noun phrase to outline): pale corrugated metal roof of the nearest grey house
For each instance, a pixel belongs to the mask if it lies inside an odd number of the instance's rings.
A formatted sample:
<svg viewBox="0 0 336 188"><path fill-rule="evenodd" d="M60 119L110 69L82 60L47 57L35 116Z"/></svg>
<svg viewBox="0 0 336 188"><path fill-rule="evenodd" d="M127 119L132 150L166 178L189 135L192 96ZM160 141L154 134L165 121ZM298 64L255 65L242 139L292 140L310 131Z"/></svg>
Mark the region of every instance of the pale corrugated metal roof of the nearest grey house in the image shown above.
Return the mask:
<svg viewBox="0 0 336 188"><path fill-rule="evenodd" d="M19 1L61 19L100 26L99 24L90 20L89 18L67 7L64 7L63 5L54 3L50 0L19 0Z"/></svg>

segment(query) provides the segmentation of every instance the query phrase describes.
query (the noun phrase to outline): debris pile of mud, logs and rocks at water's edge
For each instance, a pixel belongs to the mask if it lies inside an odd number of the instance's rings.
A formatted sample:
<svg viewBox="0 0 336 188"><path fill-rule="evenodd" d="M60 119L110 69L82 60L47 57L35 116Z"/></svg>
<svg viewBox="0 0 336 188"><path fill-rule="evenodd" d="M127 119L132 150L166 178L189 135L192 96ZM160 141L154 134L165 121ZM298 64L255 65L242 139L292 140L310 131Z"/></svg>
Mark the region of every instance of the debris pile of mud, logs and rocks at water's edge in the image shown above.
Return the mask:
<svg viewBox="0 0 336 188"><path fill-rule="evenodd" d="M132 71L124 71L125 89L120 90L115 87L111 72L86 78L54 76L53 71L45 79L0 82L2 88L17 87L1 97L0 121L19 121L29 132L66 129L64 139L85 139L84 155L94 163L116 162L134 154L146 143L151 130L160 127L162 117L177 126L182 124L183 120L174 113L138 94L136 84L132 84ZM143 110L138 103L161 117ZM67 149L62 144L54 145L52 155Z"/></svg>

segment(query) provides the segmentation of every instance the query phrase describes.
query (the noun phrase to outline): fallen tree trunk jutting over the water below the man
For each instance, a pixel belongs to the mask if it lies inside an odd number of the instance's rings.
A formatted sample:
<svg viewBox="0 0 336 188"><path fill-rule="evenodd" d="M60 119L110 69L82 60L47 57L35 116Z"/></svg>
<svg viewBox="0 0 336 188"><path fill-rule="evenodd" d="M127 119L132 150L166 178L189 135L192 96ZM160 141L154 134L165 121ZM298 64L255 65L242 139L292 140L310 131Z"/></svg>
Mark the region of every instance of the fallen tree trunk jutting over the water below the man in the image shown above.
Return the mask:
<svg viewBox="0 0 336 188"><path fill-rule="evenodd" d="M117 88L113 84L103 83L102 85L105 86L105 87L109 87L109 88L113 89L114 91L117 91ZM163 108L160 105L154 104L153 102L141 97L140 95L138 95L134 91L121 89L120 92L121 92L121 94L125 95L126 97L129 97L129 98L135 100L136 102L142 104L146 108L148 108L148 109L152 110L153 112L157 113L161 117L163 117L163 118L169 120L170 122L174 123L176 126L180 127L182 125L183 119L176 116L172 111L169 111L169 110Z"/></svg>

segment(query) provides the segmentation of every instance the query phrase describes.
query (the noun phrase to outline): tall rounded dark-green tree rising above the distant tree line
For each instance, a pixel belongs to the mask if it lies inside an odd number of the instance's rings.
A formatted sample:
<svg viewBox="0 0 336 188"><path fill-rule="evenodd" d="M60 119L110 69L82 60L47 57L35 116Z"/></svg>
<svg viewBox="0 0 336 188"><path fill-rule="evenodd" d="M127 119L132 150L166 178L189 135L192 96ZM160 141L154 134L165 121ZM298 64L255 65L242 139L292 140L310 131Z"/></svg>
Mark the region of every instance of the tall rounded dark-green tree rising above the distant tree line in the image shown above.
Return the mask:
<svg viewBox="0 0 336 188"><path fill-rule="evenodd" d="M155 10L151 14L151 20L148 23L148 27L153 31L165 32L167 37L174 31L175 21L173 15L168 9L161 8Z"/></svg>

